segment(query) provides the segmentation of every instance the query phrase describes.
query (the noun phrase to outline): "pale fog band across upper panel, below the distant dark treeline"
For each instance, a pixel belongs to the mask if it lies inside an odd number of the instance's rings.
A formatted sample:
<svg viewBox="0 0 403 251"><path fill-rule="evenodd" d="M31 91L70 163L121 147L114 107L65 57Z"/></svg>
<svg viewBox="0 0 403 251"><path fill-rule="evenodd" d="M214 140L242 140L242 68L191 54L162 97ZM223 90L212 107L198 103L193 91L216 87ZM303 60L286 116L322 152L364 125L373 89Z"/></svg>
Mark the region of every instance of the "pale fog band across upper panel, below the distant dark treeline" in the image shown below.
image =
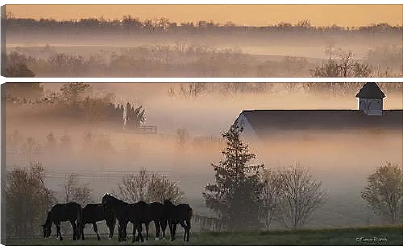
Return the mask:
<svg viewBox="0 0 403 251"><path fill-rule="evenodd" d="M338 50L353 51L354 59L373 68L373 76L403 74L401 32L133 35L12 29L6 52L23 58L9 56L7 64L27 62L37 77L309 77L328 59L329 44L334 57Z"/></svg>

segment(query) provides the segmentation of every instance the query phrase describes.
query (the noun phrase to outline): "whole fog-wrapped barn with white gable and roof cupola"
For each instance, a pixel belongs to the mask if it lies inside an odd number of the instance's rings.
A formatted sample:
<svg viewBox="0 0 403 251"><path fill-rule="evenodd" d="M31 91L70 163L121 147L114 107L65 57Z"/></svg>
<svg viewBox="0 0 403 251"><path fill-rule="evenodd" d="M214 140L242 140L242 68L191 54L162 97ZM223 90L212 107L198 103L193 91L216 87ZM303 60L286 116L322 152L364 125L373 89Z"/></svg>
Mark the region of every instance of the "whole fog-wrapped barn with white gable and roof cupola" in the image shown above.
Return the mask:
<svg viewBox="0 0 403 251"><path fill-rule="evenodd" d="M383 110L386 95L366 83L355 96L356 110L243 110L234 123L243 138L262 140L279 131L402 130L403 110Z"/></svg>

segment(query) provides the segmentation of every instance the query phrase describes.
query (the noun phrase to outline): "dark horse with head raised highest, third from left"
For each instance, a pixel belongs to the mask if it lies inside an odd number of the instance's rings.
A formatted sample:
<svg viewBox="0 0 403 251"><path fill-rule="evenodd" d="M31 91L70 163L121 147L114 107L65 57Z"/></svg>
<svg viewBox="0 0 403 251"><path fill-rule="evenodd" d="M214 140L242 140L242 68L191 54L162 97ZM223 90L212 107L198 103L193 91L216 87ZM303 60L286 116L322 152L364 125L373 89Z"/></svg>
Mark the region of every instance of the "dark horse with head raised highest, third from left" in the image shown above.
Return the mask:
<svg viewBox="0 0 403 251"><path fill-rule="evenodd" d="M146 206L145 202L136 202L129 204L113 197L112 195L105 193L102 198L102 206L110 208L116 214L116 218L119 223L119 231L124 231L126 233L127 224L129 222L133 223L133 242L139 241L144 242L143 235L141 235L141 222L144 221L143 217L145 214ZM136 230L138 232L136 237ZM126 235L126 234L125 234ZM121 239L119 237L119 239Z"/></svg>

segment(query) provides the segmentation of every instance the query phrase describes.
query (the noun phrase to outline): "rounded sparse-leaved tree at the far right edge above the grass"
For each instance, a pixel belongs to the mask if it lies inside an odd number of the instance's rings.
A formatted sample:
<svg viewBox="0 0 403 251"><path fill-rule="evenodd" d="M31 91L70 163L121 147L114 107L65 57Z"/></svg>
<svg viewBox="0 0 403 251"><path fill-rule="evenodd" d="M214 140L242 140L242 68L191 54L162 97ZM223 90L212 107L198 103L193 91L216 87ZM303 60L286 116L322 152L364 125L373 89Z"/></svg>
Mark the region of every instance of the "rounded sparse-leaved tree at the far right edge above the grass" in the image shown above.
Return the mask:
<svg viewBox="0 0 403 251"><path fill-rule="evenodd" d="M378 167L368 176L368 184L361 197L368 206L390 224L395 225L402 220L403 206L403 172L399 165Z"/></svg>

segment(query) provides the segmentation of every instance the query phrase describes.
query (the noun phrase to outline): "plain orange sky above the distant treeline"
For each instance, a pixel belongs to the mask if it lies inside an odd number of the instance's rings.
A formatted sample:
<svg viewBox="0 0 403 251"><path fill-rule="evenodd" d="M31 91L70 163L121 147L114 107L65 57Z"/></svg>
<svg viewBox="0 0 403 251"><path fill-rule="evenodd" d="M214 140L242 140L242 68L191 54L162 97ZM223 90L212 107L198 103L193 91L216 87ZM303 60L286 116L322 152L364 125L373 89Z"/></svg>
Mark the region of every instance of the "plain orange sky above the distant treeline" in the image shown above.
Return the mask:
<svg viewBox="0 0 403 251"><path fill-rule="evenodd" d="M186 21L213 21L236 24L266 25L297 23L310 19L312 25L359 26L372 23L402 25L403 5L398 4L7 4L6 10L16 17L34 19L80 19L100 17L120 19L124 15L140 19L166 17L178 23Z"/></svg>

